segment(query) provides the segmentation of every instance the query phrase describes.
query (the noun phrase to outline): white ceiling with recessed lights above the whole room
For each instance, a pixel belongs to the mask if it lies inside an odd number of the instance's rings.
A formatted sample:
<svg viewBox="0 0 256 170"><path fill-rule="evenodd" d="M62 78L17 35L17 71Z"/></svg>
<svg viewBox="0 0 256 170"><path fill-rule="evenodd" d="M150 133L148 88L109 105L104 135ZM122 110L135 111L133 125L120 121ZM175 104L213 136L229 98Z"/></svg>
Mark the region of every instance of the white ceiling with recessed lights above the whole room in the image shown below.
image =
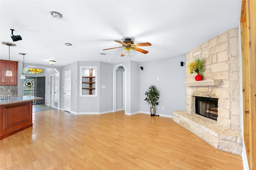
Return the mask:
<svg viewBox="0 0 256 170"><path fill-rule="evenodd" d="M131 37L148 54L134 52L132 61L144 62L185 55L220 33L238 27L240 0L1 0L0 58L25 63L64 66L76 61L127 61L114 40ZM54 19L50 11L60 12ZM13 42L10 34L21 35ZM66 47L64 43L72 43ZM108 55L100 55L107 53ZM111 61L109 61L111 60Z"/></svg>

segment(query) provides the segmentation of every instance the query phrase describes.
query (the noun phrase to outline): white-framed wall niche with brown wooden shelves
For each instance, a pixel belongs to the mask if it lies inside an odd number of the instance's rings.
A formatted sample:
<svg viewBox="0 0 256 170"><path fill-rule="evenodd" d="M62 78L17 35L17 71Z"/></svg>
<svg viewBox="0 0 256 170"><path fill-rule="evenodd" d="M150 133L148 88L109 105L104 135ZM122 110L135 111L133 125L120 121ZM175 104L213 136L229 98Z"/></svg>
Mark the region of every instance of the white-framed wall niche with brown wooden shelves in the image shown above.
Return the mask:
<svg viewBox="0 0 256 170"><path fill-rule="evenodd" d="M80 66L80 97L97 97L97 66Z"/></svg>

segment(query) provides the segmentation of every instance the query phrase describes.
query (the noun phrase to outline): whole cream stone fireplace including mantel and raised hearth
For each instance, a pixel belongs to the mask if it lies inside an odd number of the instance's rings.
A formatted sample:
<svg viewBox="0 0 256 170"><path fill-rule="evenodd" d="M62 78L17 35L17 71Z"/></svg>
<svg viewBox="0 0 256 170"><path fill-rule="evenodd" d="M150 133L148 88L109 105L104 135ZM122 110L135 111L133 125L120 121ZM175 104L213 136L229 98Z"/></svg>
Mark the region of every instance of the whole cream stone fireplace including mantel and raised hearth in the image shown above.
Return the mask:
<svg viewBox="0 0 256 170"><path fill-rule="evenodd" d="M185 127L216 149L242 154L240 127L240 59L238 28L230 29L186 54L186 66L204 57L204 79L196 82L186 69L186 111L174 111L173 121ZM217 98L211 116L196 114L196 96ZM197 103L198 104L198 103ZM202 106L203 108L203 106ZM202 109L201 108L201 109ZM210 110L208 110L210 115Z"/></svg>

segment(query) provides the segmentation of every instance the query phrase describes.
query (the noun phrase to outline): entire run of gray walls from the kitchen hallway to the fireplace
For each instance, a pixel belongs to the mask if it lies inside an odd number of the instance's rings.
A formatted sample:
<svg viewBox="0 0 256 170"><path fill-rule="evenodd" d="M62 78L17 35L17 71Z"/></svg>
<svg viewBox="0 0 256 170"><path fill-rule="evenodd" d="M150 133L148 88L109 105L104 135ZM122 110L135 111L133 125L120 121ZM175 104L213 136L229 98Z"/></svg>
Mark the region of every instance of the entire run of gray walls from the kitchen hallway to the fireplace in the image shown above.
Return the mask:
<svg viewBox="0 0 256 170"><path fill-rule="evenodd" d="M64 71L71 70L71 111L75 113L106 113L112 111L113 107L113 69L116 65L124 65L126 72L126 113L134 114L141 111L149 113L149 104L144 101L144 93L150 85L155 85L160 91L160 103L157 106L157 113L172 116L173 110L186 110L186 87L185 66L180 66L180 61L185 61L184 56L170 57L166 59L137 63L126 61L122 63L86 62L80 61L57 67L60 70L60 108L64 108ZM25 63L26 65L32 65ZM34 64L33 64L34 65ZM185 65L185 63L184 63ZM22 63L19 62L18 72L21 74ZM38 65L41 66L41 65ZM79 97L80 93L80 66L98 66L98 97ZM140 66L144 70L140 70ZM44 66L48 67L48 66ZM51 68L51 66L49 66ZM56 67L52 67L56 68ZM48 69L47 69L48 70ZM47 83L52 70L44 71ZM119 73L117 73L119 75ZM121 74L121 71L120 71ZM19 75L20 76L20 75ZM38 75L39 76L39 75ZM118 77L120 77L119 75ZM121 78L121 77L120 77ZM157 80L157 78L159 80ZM73 82L73 80L76 80ZM18 92L22 94L22 80L18 80ZM120 81L120 83L122 83ZM119 84L120 85L120 84ZM119 85L117 88L120 88ZM106 88L102 88L105 86ZM117 89L118 90L118 89ZM120 90L119 90L120 91ZM48 98L48 96L46 96ZM117 98L119 101L119 99ZM120 100L121 101L121 100ZM164 106L164 109L162 109ZM121 109L117 102L117 109Z"/></svg>

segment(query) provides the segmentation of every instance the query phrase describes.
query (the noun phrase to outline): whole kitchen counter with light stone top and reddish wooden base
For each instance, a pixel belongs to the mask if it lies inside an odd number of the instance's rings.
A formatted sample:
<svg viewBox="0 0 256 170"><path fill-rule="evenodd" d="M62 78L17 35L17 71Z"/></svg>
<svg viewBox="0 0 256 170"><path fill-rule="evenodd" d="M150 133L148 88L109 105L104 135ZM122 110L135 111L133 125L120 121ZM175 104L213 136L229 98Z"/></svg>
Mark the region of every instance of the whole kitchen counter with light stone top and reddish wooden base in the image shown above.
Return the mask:
<svg viewBox="0 0 256 170"><path fill-rule="evenodd" d="M32 127L32 102L36 96L0 100L0 140Z"/></svg>

